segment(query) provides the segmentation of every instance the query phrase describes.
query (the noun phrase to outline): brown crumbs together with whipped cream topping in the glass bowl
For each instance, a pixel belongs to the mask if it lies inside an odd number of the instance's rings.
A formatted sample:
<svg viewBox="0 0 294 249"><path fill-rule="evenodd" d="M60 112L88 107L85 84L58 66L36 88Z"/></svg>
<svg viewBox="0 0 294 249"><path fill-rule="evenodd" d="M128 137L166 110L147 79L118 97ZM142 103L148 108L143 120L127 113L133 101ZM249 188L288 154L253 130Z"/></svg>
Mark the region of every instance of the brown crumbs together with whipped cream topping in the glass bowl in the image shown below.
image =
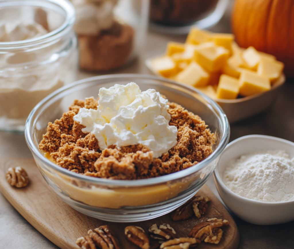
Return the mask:
<svg viewBox="0 0 294 249"><path fill-rule="evenodd" d="M116 84L75 100L49 122L39 148L58 166L98 178L135 180L189 168L212 153L205 121L154 89Z"/></svg>

